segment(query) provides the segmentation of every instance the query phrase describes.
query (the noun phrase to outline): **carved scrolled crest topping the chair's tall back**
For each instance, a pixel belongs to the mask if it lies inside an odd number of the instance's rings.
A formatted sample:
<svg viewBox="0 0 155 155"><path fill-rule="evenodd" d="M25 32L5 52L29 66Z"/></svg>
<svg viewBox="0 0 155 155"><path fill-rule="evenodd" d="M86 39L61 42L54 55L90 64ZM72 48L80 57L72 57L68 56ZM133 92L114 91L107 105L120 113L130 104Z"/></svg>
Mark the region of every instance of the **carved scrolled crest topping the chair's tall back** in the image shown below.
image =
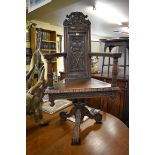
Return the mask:
<svg viewBox="0 0 155 155"><path fill-rule="evenodd" d="M88 17L84 15L82 12L72 12L70 15L66 16L68 19L65 19L63 25L71 26L71 25L90 25L90 21L86 20Z"/></svg>

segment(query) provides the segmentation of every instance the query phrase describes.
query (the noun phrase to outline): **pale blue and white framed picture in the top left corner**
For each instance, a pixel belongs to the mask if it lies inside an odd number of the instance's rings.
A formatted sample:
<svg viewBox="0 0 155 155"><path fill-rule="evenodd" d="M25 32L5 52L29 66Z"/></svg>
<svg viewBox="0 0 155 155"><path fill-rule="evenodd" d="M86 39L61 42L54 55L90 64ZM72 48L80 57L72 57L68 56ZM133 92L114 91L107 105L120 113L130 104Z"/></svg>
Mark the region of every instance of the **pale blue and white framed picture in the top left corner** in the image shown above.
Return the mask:
<svg viewBox="0 0 155 155"><path fill-rule="evenodd" d="M40 8L41 6L51 2L52 0L28 0L28 13Z"/></svg>

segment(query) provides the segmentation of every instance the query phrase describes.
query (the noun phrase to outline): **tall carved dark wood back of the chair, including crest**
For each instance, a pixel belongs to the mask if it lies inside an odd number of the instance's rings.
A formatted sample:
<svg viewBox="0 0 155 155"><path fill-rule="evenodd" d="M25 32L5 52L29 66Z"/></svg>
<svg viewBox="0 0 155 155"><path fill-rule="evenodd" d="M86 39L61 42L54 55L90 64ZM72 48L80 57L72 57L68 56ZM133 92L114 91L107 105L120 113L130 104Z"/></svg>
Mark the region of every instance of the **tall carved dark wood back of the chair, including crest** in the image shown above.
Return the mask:
<svg viewBox="0 0 155 155"><path fill-rule="evenodd" d="M72 12L64 20L65 79L91 77L90 21L82 12Z"/></svg>

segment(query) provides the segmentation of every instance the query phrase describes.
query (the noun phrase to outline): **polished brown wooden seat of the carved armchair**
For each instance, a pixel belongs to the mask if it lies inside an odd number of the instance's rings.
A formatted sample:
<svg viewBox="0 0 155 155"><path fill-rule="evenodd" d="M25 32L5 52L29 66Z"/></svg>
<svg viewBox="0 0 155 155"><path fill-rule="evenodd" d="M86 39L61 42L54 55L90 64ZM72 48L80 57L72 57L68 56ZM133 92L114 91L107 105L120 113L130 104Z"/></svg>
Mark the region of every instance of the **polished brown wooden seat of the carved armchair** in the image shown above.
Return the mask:
<svg viewBox="0 0 155 155"><path fill-rule="evenodd" d="M104 93L106 92L110 93L118 90L118 87L111 87L110 83L103 82L94 78L70 81L63 79L62 81L56 83L53 89L47 89L46 93L58 95L59 97L61 94L63 94L64 96L67 95L67 97L73 98L73 96L71 96L73 94L78 97L104 96ZM98 94L95 94L95 92ZM99 92L101 94L99 94ZM69 94L70 96L68 96Z"/></svg>

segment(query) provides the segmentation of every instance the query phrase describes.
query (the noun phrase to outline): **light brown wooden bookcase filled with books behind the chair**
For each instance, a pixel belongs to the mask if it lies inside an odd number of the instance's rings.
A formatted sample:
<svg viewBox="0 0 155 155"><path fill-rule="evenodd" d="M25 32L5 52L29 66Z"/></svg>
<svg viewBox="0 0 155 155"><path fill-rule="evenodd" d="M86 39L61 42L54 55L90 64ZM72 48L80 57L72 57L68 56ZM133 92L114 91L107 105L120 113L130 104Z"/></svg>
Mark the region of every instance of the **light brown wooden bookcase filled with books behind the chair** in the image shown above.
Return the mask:
<svg viewBox="0 0 155 155"><path fill-rule="evenodd" d="M37 35L38 28L32 27L30 28L30 46L32 53L36 50L36 35ZM42 43L41 43L41 51L44 54L52 54L57 53L57 41L56 41L56 31L51 31L47 29L42 29L43 36L42 36ZM43 63L43 62L42 62ZM58 80L58 69L57 69L57 60L52 60L52 68L53 68L53 80Z"/></svg>

